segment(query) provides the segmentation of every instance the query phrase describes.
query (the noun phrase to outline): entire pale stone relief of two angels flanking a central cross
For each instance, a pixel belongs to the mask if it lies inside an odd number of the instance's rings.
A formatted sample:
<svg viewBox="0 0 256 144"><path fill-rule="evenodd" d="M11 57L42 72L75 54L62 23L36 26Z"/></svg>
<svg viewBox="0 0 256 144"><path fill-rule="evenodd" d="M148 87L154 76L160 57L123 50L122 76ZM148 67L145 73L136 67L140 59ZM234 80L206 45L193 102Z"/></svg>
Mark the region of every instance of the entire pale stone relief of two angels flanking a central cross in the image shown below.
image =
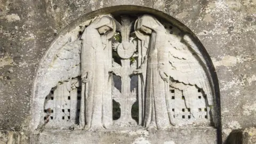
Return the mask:
<svg viewBox="0 0 256 144"><path fill-rule="evenodd" d="M50 85L45 98L45 127L168 130L211 125L213 80L189 34L148 14L122 15L119 20L102 15L81 27L81 36L59 44L49 69L49 74L64 72L54 77L58 83ZM116 34L121 34L119 42ZM113 59L114 52L119 61ZM114 75L121 79L119 89ZM138 76L135 88L132 76ZM115 121L113 100L121 109ZM135 121L131 109L136 101Z"/></svg>

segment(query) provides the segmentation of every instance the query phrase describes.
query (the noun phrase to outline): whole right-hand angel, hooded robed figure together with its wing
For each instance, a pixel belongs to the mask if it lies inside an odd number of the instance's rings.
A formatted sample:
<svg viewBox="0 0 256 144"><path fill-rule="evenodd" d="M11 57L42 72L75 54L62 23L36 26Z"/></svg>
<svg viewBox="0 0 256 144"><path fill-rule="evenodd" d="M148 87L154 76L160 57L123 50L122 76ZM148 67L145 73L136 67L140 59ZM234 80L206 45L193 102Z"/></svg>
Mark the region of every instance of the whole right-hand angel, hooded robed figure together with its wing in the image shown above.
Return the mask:
<svg viewBox="0 0 256 144"><path fill-rule="evenodd" d="M145 104L142 125L147 129L165 130L175 125L173 111L169 102L169 86L183 91L185 105L191 107L189 89L197 86L207 95L209 105L212 105L212 89L208 74L193 51L181 42L174 42L166 29L151 15L142 15L135 22L135 34L140 41L148 41L148 49L139 69L134 74L142 75L142 102ZM145 43L144 42L144 43ZM142 42L141 42L142 43ZM200 59L200 58L199 58ZM202 62L202 61L201 61ZM143 100L145 99L145 100ZM198 109L197 109L198 110Z"/></svg>

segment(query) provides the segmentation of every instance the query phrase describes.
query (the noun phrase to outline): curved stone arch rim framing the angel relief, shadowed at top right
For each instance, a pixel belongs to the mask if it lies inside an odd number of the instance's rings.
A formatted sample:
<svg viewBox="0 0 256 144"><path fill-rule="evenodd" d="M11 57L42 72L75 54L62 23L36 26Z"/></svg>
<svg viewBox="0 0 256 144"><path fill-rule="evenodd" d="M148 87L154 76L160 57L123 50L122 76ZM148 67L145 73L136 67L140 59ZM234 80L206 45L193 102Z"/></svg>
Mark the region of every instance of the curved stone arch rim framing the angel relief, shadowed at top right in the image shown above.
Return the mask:
<svg viewBox="0 0 256 144"><path fill-rule="evenodd" d="M39 63L38 73L35 78L34 93L33 93L33 98L31 99L31 103L32 103L31 105L32 119L31 119L31 125L30 125L31 130L34 131L38 128L39 121L41 118L41 113L44 107L45 97L51 91L52 87L58 84L58 81L54 81L54 79L47 79L47 77L45 77L45 74L49 71L49 68L51 67L52 61L54 61L55 55L58 53L58 51L61 49L61 47L65 43L67 43L68 41L74 41L74 38L76 38L77 34L81 30L79 29L79 26L82 25L82 23L86 25L85 23L88 22L88 20L96 17L97 15L109 14L109 13L113 14L114 16L121 15L121 14L138 14L138 13L152 14L152 15L155 15L155 17L157 18L164 19L165 21L172 23L173 26L181 29L184 33L190 34L193 37L194 41L197 43L197 47L199 51L201 51L203 58L207 64L207 68L210 71L212 83L214 85L213 87L214 95L215 95L214 123L215 123L215 127L217 127L219 131L219 137L221 137L220 94L219 94L218 77L217 77L217 74L215 73L215 69L211 61L211 58L207 53L206 49L204 48L203 44L194 35L193 31L191 31L188 27L183 25L183 23L171 17L170 15L163 13L161 11L157 11L155 9L151 9L149 7L133 6L133 5L112 6L112 7L107 7L104 9L87 13L83 15L81 18L77 19L76 21L70 23L70 25L68 25L65 29L63 29L59 34L59 36L50 44L44 57ZM54 73L54 74L58 75L58 73ZM44 83L46 81L49 81L49 82Z"/></svg>

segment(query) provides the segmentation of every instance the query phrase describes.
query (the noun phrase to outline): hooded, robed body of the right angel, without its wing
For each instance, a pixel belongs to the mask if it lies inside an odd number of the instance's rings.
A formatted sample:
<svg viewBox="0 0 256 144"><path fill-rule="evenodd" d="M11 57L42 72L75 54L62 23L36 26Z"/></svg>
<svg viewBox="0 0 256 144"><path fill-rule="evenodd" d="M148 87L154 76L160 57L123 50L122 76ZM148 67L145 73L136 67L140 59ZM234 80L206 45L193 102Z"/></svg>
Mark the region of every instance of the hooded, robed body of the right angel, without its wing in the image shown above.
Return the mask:
<svg viewBox="0 0 256 144"><path fill-rule="evenodd" d="M169 108L169 51L166 47L167 35L164 26L155 18L143 15L137 21L136 35L143 39L145 34L140 28L144 26L152 30L146 59L147 63L146 84L145 84L145 117L143 125L148 129L164 130L169 129L174 122L171 109Z"/></svg>

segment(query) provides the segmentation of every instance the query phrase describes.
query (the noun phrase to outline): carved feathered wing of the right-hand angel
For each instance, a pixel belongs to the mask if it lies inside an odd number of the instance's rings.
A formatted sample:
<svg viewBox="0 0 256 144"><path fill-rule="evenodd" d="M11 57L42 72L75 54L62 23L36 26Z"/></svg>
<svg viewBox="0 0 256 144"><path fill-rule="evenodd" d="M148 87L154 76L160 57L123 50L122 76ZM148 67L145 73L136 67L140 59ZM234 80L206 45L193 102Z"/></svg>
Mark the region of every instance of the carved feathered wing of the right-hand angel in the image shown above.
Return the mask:
<svg viewBox="0 0 256 144"><path fill-rule="evenodd" d="M183 40L186 42L186 39ZM173 81L170 85L179 90L185 90L189 85L195 85L204 91L209 105L213 105L213 86L205 60L199 57L199 52L194 50L193 46L187 45L180 41L173 42L172 39L168 44L171 66L169 75Z"/></svg>

